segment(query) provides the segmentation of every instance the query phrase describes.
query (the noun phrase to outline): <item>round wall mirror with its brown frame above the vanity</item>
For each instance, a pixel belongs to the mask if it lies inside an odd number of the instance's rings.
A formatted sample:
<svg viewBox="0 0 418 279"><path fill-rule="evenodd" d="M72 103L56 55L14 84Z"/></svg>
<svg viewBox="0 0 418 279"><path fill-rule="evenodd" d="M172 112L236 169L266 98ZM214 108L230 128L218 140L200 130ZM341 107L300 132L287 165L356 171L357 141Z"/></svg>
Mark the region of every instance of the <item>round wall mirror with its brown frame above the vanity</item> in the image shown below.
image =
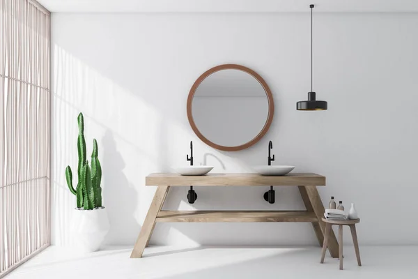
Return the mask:
<svg viewBox="0 0 418 279"><path fill-rule="evenodd" d="M272 123L273 96L263 78L240 65L207 70L187 98L187 117L206 144L238 151L256 144Z"/></svg>

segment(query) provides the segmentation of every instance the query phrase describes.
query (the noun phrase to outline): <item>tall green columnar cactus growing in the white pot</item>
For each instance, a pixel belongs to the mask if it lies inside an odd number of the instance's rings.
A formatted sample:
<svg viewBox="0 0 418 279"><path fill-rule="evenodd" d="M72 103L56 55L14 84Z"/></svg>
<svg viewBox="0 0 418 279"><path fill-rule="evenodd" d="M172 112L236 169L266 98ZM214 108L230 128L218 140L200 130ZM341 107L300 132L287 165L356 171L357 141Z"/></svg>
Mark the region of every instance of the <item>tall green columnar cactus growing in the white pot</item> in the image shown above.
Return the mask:
<svg viewBox="0 0 418 279"><path fill-rule="evenodd" d="M93 153L91 153L91 167L86 160L86 140L84 139L84 117L80 112L78 118L79 135L77 139L78 168L77 168L77 187L72 186L71 167L65 169L65 179L67 180L70 192L77 197L77 208L91 210L102 207L102 167L98 159L98 142L93 140Z"/></svg>

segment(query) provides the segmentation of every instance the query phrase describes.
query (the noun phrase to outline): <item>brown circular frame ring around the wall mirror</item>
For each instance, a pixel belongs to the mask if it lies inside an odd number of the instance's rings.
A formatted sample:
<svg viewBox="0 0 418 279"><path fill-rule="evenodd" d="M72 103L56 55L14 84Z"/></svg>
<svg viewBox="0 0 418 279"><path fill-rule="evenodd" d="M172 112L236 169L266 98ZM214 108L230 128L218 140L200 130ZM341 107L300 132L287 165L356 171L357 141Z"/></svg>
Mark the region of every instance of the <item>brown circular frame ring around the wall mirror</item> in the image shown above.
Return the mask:
<svg viewBox="0 0 418 279"><path fill-rule="evenodd" d="M202 133L200 133L199 129L196 127L196 123L194 123L193 115L192 115L192 102L193 102L194 93L196 93L196 89L203 82L203 80L205 80L206 77L208 77L209 75L212 75L212 73L216 73L219 70L230 70L230 69L242 70L243 72L248 73L249 75L254 77L263 86L265 95L268 98L268 118L267 118L267 121L265 121L263 129L261 130L260 133L258 133L258 135L256 135L256 137L254 137L254 139L250 140L249 142L245 144L238 145L238 146L223 146L223 145L215 144L214 142L211 142L210 140L208 140L205 136L202 135ZM215 149L219 149L222 151L239 151L242 149L247 149L249 146L253 146L254 144L256 144L259 140L261 140L261 138L265 135L265 133L267 133L268 129L270 128L270 125L273 121L273 114L274 114L274 101L273 101L272 92L270 91L270 88L268 87L267 83L265 83L265 81L263 80L263 77L258 75L258 73L254 72L254 70L251 70L250 68L247 68L241 65L236 65L236 64L219 65L219 66L216 66L207 70L196 80L196 82L194 82L192 89L190 89L189 96L187 97L187 118L189 119L190 126L192 126L194 133L199 137L199 139L201 139L202 142L208 144L208 146L211 146Z"/></svg>

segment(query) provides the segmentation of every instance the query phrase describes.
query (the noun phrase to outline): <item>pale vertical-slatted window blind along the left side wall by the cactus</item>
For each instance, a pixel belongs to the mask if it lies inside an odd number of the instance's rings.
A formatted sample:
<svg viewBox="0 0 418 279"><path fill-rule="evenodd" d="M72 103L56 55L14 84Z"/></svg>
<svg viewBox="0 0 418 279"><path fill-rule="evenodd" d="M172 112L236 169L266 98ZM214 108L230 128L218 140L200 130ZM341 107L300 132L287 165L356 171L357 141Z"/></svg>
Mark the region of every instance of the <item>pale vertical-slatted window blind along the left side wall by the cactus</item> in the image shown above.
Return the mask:
<svg viewBox="0 0 418 279"><path fill-rule="evenodd" d="M49 12L0 0L0 278L50 243Z"/></svg>

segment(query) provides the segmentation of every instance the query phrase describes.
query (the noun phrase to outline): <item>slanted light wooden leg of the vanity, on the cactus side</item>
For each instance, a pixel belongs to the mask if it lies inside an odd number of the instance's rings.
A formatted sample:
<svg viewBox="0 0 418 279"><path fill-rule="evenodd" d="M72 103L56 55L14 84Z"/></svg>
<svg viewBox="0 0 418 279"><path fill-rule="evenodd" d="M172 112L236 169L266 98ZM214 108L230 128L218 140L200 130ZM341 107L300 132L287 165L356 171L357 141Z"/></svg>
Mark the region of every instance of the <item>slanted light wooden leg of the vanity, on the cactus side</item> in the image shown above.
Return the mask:
<svg viewBox="0 0 418 279"><path fill-rule="evenodd" d="M155 192L153 202L148 209L144 224L142 225L141 232L137 242L135 243L134 250L132 250L131 258L142 257L145 247L150 241L151 234L155 227L155 219L157 218L158 213L161 211L164 201L169 192L170 186L158 186L157 191Z"/></svg>

